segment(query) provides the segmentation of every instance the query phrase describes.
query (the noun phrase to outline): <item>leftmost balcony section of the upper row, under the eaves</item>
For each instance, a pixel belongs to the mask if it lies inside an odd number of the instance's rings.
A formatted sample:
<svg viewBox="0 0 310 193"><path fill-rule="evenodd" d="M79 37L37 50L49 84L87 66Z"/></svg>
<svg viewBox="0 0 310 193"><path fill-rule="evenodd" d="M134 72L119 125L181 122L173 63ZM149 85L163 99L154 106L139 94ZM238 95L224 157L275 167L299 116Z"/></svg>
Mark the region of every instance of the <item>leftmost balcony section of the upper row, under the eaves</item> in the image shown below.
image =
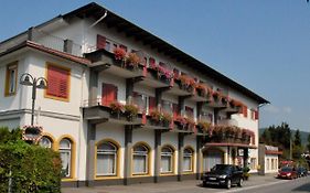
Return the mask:
<svg viewBox="0 0 310 193"><path fill-rule="evenodd" d="M146 68L141 64L132 64L122 58L117 58L114 53L106 50L97 50L85 54L85 57L94 64L95 71L105 71L124 78L137 78L146 76Z"/></svg>

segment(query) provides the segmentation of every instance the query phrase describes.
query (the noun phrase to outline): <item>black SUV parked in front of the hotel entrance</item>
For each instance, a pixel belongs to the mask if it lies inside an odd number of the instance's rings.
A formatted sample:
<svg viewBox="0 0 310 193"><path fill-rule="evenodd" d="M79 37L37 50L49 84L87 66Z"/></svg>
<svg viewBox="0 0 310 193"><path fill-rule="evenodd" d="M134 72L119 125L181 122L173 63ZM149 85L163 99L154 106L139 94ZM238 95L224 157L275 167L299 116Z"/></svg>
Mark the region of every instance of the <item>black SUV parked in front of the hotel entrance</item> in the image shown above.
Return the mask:
<svg viewBox="0 0 310 193"><path fill-rule="evenodd" d="M203 174L203 186L223 185L231 189L232 184L243 185L243 170L233 164L216 164Z"/></svg>

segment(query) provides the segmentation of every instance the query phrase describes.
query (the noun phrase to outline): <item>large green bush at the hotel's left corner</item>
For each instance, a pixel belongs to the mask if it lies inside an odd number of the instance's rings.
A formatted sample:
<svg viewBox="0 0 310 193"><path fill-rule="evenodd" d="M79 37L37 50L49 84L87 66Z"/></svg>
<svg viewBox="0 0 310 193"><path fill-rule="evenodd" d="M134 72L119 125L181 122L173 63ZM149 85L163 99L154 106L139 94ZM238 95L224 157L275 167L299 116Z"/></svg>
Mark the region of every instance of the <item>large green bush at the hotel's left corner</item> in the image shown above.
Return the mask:
<svg viewBox="0 0 310 193"><path fill-rule="evenodd" d="M12 192L61 192L60 154L22 141L20 130L4 130L0 129L7 135L0 139L0 192L8 192L10 171Z"/></svg>

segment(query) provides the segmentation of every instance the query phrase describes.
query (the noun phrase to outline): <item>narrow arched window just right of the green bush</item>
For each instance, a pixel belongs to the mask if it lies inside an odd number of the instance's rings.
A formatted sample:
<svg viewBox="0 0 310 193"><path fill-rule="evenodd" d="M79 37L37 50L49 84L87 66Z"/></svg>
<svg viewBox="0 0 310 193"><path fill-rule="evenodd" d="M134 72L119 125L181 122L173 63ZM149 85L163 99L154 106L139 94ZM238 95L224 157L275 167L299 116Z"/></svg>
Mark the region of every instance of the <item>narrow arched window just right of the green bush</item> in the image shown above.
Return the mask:
<svg viewBox="0 0 310 193"><path fill-rule="evenodd" d="M60 142L60 153L63 164L63 175L70 178L72 175L72 142L68 139L62 139Z"/></svg>

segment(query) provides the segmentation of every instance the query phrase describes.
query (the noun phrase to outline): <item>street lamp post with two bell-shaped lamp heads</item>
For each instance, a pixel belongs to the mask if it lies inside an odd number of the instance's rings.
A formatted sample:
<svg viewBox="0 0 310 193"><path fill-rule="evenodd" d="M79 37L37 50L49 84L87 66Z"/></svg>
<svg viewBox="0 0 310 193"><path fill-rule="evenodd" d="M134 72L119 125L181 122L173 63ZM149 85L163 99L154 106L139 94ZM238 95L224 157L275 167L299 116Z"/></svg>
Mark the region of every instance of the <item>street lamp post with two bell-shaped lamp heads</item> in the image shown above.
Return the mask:
<svg viewBox="0 0 310 193"><path fill-rule="evenodd" d="M47 81L44 77L35 78L31 74L24 73L24 74L21 75L20 84L25 85L25 86L32 86L31 126L33 126L36 88L46 89L47 88Z"/></svg>

